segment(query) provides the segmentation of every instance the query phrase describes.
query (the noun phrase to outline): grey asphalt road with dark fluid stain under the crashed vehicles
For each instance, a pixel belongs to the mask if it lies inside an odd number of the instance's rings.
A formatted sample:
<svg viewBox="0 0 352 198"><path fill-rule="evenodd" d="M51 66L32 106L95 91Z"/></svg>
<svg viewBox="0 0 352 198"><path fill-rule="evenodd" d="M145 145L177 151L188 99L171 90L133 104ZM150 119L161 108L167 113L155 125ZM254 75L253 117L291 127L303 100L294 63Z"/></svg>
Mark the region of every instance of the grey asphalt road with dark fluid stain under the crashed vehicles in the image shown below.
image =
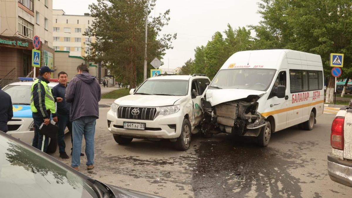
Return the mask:
<svg viewBox="0 0 352 198"><path fill-rule="evenodd" d="M312 131L276 132L265 148L219 134L192 136L188 151L176 151L168 141L118 145L107 131L108 110L100 108L96 124L95 168L86 170L85 156L80 166L82 173L107 184L163 197L351 197L352 188L327 174L334 114L318 117ZM65 141L69 151L69 134ZM59 159L58 153L52 155ZM70 165L71 159L63 161Z"/></svg>

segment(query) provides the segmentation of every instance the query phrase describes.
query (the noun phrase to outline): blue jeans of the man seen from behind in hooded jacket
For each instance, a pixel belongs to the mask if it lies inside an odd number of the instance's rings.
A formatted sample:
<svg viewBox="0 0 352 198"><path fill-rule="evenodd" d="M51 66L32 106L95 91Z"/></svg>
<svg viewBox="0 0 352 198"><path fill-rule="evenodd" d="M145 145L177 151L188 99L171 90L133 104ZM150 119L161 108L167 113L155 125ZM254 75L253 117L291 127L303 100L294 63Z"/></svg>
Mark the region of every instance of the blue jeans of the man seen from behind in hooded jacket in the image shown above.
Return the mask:
<svg viewBox="0 0 352 198"><path fill-rule="evenodd" d="M94 164L94 134L95 134L95 116L83 116L72 122L73 149L71 166L78 167L81 164L82 137L86 140L86 165Z"/></svg>

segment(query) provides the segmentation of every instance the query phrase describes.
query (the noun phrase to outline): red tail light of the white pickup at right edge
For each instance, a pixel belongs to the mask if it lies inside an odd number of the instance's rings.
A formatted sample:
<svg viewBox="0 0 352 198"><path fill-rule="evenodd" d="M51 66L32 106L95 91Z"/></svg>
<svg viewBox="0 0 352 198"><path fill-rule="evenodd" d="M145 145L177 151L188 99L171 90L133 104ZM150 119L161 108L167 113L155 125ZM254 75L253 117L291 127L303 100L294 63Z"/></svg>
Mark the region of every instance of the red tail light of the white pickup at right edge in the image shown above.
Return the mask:
<svg viewBox="0 0 352 198"><path fill-rule="evenodd" d="M344 122L345 117L337 116L331 126L331 146L334 149L344 150Z"/></svg>

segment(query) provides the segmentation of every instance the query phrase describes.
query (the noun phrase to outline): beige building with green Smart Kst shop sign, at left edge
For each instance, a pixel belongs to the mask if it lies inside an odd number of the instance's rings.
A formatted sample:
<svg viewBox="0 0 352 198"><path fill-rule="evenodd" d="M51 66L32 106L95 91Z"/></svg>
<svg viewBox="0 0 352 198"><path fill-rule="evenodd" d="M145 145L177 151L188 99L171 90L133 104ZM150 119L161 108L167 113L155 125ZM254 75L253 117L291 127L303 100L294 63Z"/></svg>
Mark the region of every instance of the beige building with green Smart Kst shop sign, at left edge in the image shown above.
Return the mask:
<svg viewBox="0 0 352 198"><path fill-rule="evenodd" d="M10 72L18 77L33 70L34 35L42 42L41 65L53 67L52 30L52 0L0 0L0 79Z"/></svg>

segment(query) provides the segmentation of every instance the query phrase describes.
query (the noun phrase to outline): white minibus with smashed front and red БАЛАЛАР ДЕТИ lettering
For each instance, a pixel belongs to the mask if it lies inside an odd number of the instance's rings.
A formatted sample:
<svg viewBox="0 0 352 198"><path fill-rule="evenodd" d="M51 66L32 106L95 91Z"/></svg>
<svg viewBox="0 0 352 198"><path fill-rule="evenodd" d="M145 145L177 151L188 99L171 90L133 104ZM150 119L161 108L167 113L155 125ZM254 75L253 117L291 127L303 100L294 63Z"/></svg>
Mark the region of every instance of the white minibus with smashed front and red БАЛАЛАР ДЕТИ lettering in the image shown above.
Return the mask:
<svg viewBox="0 0 352 198"><path fill-rule="evenodd" d="M202 97L205 130L254 136L267 146L271 133L290 126L312 130L323 113L320 55L275 49L240 51L220 68ZM217 129L217 130L214 130Z"/></svg>

